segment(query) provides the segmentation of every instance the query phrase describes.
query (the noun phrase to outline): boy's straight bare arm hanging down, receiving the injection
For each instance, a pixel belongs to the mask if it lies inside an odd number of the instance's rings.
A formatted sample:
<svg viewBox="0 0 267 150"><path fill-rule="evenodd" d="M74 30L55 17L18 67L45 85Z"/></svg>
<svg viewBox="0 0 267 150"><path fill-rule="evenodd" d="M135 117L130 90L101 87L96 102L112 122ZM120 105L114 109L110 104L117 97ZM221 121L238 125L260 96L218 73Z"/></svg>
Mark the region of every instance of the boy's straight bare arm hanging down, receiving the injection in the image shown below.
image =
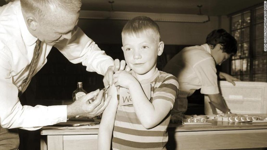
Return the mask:
<svg viewBox="0 0 267 150"><path fill-rule="evenodd" d="M97 138L97 149L99 150L110 150L111 146L112 131L118 106L117 89L114 85L109 87L108 95L112 95L112 98L102 114Z"/></svg>

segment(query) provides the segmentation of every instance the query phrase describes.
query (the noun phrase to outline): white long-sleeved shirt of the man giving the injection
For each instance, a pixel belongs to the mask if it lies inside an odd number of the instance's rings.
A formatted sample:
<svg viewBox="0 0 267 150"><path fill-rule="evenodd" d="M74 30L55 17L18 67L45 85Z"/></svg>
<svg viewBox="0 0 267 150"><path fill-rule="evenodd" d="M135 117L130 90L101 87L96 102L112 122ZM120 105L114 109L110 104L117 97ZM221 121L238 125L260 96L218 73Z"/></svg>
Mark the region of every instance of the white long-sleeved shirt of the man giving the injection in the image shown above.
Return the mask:
<svg viewBox="0 0 267 150"><path fill-rule="evenodd" d="M22 80L28 75L36 40L27 29L19 1L0 7L0 122L3 128L36 130L67 120L66 105L32 107L19 102L18 93ZM87 71L101 75L105 75L114 63L78 27L73 31L72 39L62 40L54 47L70 62L82 63ZM34 74L45 65L51 48L51 45L41 43Z"/></svg>

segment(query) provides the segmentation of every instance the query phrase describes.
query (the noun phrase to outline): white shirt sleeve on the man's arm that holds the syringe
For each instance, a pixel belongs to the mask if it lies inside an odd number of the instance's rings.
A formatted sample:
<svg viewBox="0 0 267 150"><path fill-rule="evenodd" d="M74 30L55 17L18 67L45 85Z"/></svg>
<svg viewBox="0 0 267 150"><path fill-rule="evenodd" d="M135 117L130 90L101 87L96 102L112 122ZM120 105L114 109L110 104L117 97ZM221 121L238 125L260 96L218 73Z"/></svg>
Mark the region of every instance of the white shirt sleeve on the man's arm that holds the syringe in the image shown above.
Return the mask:
<svg viewBox="0 0 267 150"><path fill-rule="evenodd" d="M11 57L0 45L0 123L3 128L23 128L37 130L42 126L66 122L66 105L62 106L22 106L18 98L18 88L13 84Z"/></svg>

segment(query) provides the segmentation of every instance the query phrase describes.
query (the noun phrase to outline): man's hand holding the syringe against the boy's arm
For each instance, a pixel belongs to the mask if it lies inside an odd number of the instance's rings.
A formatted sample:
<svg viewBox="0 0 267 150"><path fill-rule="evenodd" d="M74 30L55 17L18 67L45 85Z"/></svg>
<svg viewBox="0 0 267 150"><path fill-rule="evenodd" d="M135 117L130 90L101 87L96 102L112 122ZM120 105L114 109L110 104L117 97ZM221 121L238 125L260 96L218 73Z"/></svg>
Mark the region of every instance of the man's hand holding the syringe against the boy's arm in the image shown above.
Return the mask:
<svg viewBox="0 0 267 150"><path fill-rule="evenodd" d="M89 99L92 99L94 95L97 95L97 98L93 103L89 103ZM75 102L67 106L67 117L71 118L74 116L86 116L86 117L95 117L101 114L104 109L107 107L111 96L108 96L104 101L103 90L90 92L83 97L77 99Z"/></svg>

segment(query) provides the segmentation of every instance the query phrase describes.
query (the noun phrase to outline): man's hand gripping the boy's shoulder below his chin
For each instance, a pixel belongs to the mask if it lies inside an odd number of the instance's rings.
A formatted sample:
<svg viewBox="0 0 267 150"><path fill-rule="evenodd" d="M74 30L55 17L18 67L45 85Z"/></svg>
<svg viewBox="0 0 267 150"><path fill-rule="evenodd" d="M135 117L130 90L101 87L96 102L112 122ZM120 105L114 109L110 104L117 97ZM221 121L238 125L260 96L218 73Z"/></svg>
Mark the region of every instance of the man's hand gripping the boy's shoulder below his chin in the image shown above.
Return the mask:
<svg viewBox="0 0 267 150"><path fill-rule="evenodd" d="M126 72L129 72L131 69L128 66L125 66L126 62L125 60L119 60L115 59L114 60L114 66L109 66L108 70L104 76L103 83L104 86L112 85L113 84L113 74L117 71L122 71L125 70Z"/></svg>

